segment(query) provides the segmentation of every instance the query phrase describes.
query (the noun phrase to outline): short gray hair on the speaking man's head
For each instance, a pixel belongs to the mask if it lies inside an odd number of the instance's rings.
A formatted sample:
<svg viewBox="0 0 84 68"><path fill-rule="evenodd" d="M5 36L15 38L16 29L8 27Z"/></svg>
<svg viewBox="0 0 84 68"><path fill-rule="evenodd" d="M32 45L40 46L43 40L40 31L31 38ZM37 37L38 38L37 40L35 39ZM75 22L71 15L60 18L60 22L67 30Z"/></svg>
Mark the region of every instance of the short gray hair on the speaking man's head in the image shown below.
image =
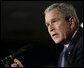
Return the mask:
<svg viewBox="0 0 84 68"><path fill-rule="evenodd" d="M70 17L75 17L76 27L79 27L79 19L77 17L76 10L71 4L54 3L45 9L44 14L46 14L47 12L51 11L54 8L57 8L60 11L62 17L65 18L66 20L69 20Z"/></svg>

